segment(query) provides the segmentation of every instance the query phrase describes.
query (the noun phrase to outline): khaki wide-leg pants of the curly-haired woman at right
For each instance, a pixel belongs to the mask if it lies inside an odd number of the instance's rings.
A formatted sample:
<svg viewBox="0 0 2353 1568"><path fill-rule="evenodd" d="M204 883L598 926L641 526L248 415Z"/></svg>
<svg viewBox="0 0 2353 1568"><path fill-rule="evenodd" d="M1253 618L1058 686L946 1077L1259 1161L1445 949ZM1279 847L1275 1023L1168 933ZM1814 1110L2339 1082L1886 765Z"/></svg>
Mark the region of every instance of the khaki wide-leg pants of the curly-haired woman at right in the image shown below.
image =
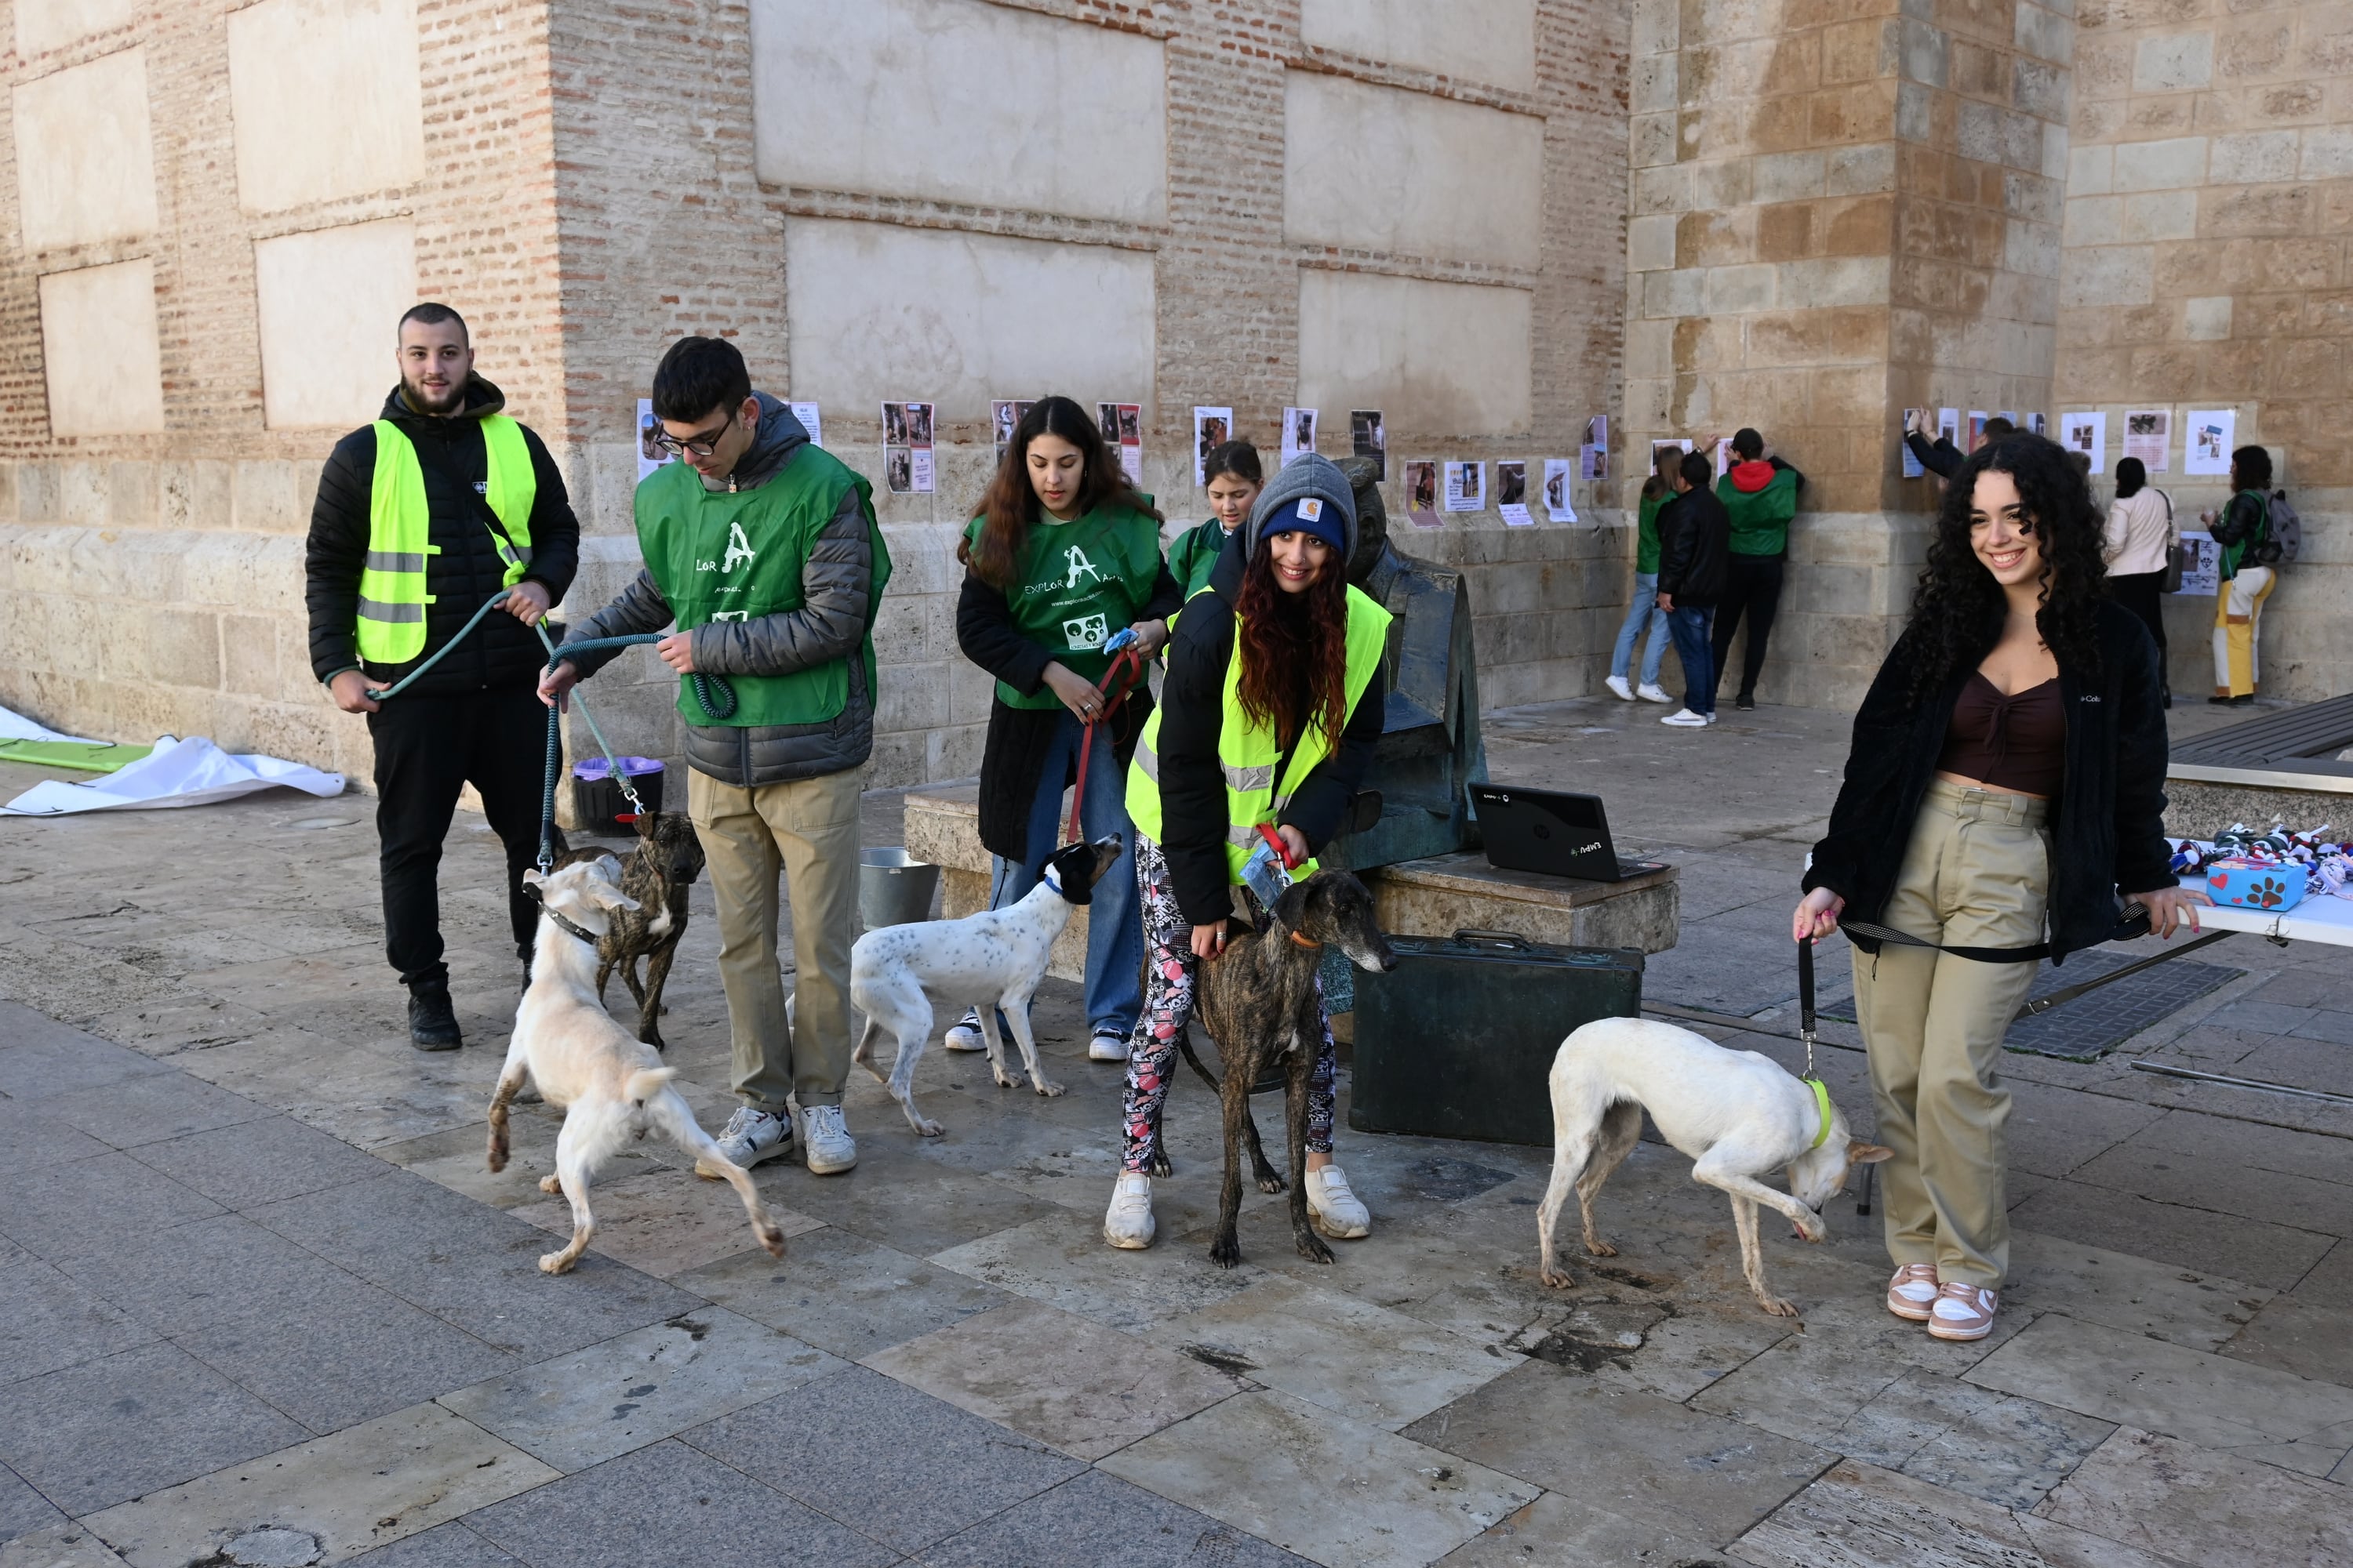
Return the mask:
<svg viewBox="0 0 2353 1568"><path fill-rule="evenodd" d="M2047 804L1944 780L1920 802L1882 926L1955 947L2028 947L2049 905ZM1887 1255L1998 1288L2009 1269L2002 1034L2035 964L1882 943L1854 952L1854 1018L1871 1053Z"/></svg>

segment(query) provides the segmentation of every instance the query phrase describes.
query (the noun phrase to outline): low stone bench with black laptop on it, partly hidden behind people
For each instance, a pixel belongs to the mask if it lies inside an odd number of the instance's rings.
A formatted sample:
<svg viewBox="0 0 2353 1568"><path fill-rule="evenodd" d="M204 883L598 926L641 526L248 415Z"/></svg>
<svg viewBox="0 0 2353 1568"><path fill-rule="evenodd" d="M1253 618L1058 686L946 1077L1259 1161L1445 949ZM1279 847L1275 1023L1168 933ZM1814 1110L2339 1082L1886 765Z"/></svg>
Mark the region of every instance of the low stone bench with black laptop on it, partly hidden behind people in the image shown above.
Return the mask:
<svg viewBox="0 0 2353 1568"><path fill-rule="evenodd" d="M941 867L941 914L988 905L988 851L979 835L979 785L932 785L906 795L906 851ZM1487 865L1478 851L1405 860L1362 872L1381 929L1391 936L1511 931L1558 947L1675 945L1680 870L1668 865L1626 882L1534 877ZM1047 973L1085 978L1087 912L1054 943Z"/></svg>

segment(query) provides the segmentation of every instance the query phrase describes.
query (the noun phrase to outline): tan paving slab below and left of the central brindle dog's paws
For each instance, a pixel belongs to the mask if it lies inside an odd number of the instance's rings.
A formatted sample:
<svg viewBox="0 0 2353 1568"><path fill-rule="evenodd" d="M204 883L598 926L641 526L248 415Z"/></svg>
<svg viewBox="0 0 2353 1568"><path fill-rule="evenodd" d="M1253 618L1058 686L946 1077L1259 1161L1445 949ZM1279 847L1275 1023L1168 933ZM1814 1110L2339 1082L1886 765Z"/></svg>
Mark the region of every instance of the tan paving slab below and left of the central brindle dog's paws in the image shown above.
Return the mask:
<svg viewBox="0 0 2353 1568"><path fill-rule="evenodd" d="M866 1366L1082 1460L1254 1387L1228 1356L1184 1345L1174 1324L1127 1335L1033 1300L875 1352Z"/></svg>

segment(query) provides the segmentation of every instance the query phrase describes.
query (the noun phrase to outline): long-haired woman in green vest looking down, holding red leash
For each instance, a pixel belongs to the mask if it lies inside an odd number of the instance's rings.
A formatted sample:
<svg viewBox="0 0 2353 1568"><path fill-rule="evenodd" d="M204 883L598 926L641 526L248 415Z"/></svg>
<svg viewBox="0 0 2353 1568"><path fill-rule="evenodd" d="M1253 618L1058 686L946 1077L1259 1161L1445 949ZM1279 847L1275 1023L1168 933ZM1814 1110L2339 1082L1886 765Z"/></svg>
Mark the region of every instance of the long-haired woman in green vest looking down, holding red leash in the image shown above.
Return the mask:
<svg viewBox="0 0 2353 1568"><path fill-rule="evenodd" d="M1096 691L1111 670L1104 644L1136 635L1146 658L1167 642L1176 581L1160 559L1160 512L1120 473L1104 435L1068 397L1033 402L1005 444L981 515L955 559L965 590L955 644L998 677L981 750L981 844L993 856L988 907L1019 903L1059 849L1061 792L1078 778L1080 743L1106 717ZM1136 684L1094 736L1080 799L1089 839L1127 844L1087 907L1087 1056L1127 1060L1144 1001L1144 931L1136 924L1134 839L1120 769L1151 712ZM951 1051L979 1051L981 1018L948 1030Z"/></svg>

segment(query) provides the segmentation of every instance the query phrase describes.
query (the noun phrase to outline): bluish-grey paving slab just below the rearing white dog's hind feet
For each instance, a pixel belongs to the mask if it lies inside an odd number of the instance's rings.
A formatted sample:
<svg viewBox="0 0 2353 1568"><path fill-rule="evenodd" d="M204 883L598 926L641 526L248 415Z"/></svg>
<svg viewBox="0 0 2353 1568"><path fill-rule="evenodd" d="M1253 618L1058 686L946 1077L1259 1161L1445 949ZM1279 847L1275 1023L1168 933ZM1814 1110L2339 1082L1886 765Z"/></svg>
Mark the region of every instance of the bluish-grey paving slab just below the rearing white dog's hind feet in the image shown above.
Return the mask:
<svg viewBox="0 0 2353 1568"><path fill-rule="evenodd" d="M786 1333L701 1307L442 1394L440 1406L569 1474L840 1368Z"/></svg>

